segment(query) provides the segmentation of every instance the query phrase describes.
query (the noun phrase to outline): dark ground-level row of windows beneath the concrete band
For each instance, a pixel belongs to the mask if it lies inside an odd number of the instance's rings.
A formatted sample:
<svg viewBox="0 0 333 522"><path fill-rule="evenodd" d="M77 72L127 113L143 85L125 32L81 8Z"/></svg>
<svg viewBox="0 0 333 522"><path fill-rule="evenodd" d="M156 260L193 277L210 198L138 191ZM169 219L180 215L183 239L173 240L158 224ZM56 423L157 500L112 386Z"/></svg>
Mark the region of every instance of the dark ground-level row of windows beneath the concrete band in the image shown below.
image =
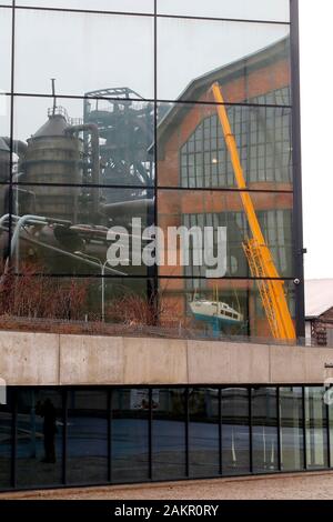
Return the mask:
<svg viewBox="0 0 333 522"><path fill-rule="evenodd" d="M0 490L329 469L325 391L9 387Z"/></svg>

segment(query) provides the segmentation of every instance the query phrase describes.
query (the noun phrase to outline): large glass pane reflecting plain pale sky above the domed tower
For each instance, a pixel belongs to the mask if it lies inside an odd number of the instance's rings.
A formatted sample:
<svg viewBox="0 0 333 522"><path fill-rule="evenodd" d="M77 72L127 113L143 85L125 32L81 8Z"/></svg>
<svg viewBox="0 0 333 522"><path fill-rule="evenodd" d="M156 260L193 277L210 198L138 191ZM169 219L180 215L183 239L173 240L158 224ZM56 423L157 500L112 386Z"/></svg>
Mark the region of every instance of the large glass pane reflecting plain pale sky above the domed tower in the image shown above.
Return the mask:
<svg viewBox="0 0 333 522"><path fill-rule="evenodd" d="M16 34L17 92L48 94L56 78L57 94L125 87L153 96L150 17L18 10Z"/></svg>

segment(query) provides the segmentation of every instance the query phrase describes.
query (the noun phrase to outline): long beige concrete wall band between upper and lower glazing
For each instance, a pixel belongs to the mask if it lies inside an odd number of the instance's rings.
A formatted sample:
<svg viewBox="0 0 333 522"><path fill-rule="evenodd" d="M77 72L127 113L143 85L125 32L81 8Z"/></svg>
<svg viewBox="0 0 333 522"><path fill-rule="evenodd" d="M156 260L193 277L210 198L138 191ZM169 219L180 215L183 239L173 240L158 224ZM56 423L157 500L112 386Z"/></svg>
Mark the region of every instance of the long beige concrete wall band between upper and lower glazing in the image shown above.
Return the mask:
<svg viewBox="0 0 333 522"><path fill-rule="evenodd" d="M153 338L0 332L9 385L320 383L333 350Z"/></svg>

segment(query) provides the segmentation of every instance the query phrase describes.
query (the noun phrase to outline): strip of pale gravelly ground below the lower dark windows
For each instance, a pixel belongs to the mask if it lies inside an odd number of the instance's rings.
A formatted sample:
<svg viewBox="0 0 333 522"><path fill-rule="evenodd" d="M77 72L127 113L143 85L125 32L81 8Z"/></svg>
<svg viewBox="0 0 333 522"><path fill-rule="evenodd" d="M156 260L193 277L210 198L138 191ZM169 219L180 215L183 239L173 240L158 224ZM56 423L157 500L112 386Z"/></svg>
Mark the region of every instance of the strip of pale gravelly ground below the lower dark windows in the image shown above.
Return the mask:
<svg viewBox="0 0 333 522"><path fill-rule="evenodd" d="M1 500L332 500L333 472L0 494Z"/></svg>

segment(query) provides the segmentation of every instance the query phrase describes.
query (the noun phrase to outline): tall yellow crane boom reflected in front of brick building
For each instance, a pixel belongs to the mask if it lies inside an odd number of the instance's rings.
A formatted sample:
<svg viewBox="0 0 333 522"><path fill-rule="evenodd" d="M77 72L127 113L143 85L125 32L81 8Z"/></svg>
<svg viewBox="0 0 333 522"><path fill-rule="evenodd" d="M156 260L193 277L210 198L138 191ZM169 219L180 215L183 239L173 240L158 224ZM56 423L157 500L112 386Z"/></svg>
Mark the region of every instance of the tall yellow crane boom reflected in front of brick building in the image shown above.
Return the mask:
<svg viewBox="0 0 333 522"><path fill-rule="evenodd" d="M265 242L251 195L248 192L236 141L231 130L224 99L218 82L213 83L212 93L218 103L216 110L225 144L230 153L238 188L241 190L240 195L252 233L252 238L246 239L243 243L251 273L254 278L262 278L258 279L258 287L273 338L295 340L294 323L284 293L284 281L279 280L280 275L271 250Z"/></svg>

